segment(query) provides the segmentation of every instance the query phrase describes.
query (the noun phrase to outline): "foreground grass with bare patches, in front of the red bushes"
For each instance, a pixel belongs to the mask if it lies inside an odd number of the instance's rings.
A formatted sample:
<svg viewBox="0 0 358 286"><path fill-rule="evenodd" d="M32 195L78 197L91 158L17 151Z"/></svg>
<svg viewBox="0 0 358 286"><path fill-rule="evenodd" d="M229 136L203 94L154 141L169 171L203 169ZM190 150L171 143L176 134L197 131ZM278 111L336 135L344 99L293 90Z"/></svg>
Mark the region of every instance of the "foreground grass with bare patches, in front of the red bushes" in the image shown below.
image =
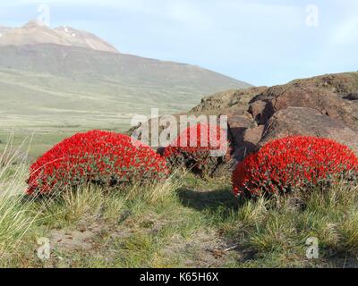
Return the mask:
<svg viewBox="0 0 358 286"><path fill-rule="evenodd" d="M14 156L16 157L16 156ZM164 183L105 193L96 187L29 199L26 162L0 164L1 267L352 267L358 188L294 197L234 198L227 178L175 173ZM320 258L306 258L315 237ZM48 238L51 257L37 257Z"/></svg>

